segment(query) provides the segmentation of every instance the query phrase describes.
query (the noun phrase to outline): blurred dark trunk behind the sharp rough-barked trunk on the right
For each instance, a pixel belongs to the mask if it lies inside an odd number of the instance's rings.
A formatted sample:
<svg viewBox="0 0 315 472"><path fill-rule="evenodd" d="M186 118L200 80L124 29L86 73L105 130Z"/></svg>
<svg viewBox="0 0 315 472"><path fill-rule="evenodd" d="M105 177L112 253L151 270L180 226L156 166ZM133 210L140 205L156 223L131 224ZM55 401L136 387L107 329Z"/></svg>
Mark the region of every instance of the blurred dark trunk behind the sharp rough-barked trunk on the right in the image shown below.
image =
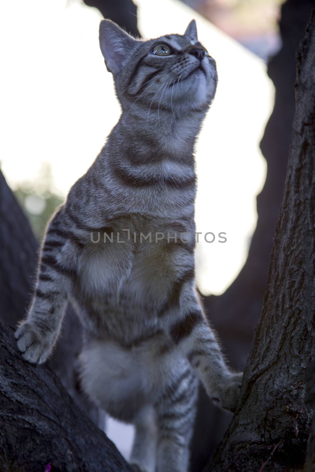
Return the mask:
<svg viewBox="0 0 315 472"><path fill-rule="evenodd" d="M268 63L275 86L272 115L261 150L267 162L264 188L257 196L258 221L248 258L223 295L204 298L210 323L217 330L232 368L242 371L250 353L266 287L274 227L279 215L288 165L295 102L295 53L303 39L315 0L288 0L281 8L281 50ZM192 472L200 472L223 438L231 415L214 407L201 388L192 447Z"/></svg>

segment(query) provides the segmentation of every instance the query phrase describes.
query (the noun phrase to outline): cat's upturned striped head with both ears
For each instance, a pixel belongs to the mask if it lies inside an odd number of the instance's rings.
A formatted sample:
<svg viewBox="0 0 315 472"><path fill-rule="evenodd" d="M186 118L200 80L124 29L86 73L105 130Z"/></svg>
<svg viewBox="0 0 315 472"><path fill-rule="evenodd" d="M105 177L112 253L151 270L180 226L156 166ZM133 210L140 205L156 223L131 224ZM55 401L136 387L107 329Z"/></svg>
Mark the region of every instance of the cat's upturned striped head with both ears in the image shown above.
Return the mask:
<svg viewBox="0 0 315 472"><path fill-rule="evenodd" d="M102 20L100 46L123 110L137 103L144 109L181 114L206 110L213 100L215 61L198 42L195 20L183 35L148 41L133 38L111 20Z"/></svg>

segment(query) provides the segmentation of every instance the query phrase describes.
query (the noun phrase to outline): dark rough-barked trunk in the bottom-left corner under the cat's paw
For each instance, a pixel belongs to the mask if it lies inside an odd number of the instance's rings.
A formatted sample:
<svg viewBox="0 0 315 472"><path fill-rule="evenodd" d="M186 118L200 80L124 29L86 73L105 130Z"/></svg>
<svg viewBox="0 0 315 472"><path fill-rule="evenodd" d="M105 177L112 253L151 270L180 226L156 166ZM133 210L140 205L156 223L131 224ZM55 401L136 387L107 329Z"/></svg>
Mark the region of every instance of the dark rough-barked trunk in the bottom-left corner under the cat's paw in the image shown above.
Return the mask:
<svg viewBox="0 0 315 472"><path fill-rule="evenodd" d="M25 362L2 321L0 331L0 472L131 472L49 367Z"/></svg>

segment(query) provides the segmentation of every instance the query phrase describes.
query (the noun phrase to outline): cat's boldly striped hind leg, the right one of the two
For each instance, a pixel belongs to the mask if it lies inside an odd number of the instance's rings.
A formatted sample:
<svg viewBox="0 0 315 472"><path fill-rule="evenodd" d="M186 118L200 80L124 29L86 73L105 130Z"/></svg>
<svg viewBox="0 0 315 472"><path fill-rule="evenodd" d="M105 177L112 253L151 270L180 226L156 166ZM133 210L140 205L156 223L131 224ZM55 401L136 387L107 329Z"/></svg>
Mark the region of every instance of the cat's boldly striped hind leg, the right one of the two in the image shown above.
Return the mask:
<svg viewBox="0 0 315 472"><path fill-rule="evenodd" d="M187 362L155 405L158 426L157 472L188 471L197 391L198 380Z"/></svg>

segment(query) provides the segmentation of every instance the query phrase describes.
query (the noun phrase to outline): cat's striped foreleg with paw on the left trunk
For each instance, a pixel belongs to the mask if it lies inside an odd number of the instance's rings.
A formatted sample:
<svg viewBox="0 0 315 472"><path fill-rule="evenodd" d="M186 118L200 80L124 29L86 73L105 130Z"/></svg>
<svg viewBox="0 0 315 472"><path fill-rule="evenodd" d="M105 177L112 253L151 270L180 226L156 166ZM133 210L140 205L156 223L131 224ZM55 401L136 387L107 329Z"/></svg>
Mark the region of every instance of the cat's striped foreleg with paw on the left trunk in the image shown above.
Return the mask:
<svg viewBox="0 0 315 472"><path fill-rule="evenodd" d="M66 243L63 233L55 217L43 242L32 304L15 333L17 347L28 362L45 362L60 331L71 275L61 251Z"/></svg>

